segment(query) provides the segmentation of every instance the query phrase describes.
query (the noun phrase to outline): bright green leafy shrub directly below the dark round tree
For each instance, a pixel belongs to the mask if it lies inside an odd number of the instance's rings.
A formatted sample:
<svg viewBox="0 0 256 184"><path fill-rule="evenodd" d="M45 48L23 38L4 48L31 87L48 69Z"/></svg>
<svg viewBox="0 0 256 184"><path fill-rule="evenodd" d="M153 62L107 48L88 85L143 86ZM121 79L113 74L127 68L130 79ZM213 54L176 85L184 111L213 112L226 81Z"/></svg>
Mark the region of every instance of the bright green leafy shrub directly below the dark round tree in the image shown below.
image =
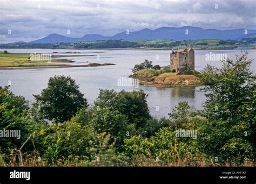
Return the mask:
<svg viewBox="0 0 256 184"><path fill-rule="evenodd" d="M45 132L43 145L45 152L43 158L49 163L69 156L78 156L79 159L89 159L90 154L86 151L96 137L93 129L82 126L75 121L64 122L57 125L52 124Z"/></svg>

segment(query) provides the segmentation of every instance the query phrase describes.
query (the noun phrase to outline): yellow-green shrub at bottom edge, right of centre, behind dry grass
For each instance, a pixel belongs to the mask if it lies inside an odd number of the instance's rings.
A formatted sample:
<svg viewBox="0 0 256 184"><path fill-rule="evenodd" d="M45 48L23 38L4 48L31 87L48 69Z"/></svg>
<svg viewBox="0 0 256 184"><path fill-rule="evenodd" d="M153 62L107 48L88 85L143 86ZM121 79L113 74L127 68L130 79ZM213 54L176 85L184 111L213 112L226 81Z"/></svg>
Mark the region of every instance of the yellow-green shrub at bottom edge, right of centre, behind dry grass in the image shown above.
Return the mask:
<svg viewBox="0 0 256 184"><path fill-rule="evenodd" d="M155 136L149 139L140 135L125 139L123 147L125 154L131 158L144 156L153 158L154 162L159 160L163 165L198 166L199 158L203 159L205 155L200 154L193 146L193 140L191 140L192 143L185 143L181 139L176 137L176 132L171 128L161 128Z"/></svg>

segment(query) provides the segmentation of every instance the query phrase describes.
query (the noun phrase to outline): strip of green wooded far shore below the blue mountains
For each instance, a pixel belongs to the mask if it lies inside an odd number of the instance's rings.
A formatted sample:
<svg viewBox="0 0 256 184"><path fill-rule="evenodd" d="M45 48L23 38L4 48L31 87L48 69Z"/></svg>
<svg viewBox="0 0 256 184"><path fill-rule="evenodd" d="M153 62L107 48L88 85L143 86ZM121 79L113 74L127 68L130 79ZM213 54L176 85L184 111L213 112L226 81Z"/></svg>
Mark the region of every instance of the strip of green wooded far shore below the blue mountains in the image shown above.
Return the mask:
<svg viewBox="0 0 256 184"><path fill-rule="evenodd" d="M88 48L173 48L173 47L195 47L203 49L233 49L238 46L252 46L255 44L255 37L242 38L238 40L223 39L199 39L174 41L170 38L156 40L96 40L77 41L74 43L9 43L0 44L0 48L51 48L51 49L88 49Z"/></svg>

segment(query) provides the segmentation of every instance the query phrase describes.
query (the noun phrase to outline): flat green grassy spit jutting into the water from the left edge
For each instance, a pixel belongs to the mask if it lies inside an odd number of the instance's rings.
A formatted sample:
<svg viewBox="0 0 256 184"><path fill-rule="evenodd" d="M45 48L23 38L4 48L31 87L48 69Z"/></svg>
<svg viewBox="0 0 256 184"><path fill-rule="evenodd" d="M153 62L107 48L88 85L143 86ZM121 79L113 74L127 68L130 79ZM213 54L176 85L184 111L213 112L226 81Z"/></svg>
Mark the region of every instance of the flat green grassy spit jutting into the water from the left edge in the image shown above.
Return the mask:
<svg viewBox="0 0 256 184"><path fill-rule="evenodd" d="M52 56L55 58L56 56ZM51 59L47 60L30 60L30 54L26 53L4 53L0 52L0 67L12 66L46 66L56 62L71 62L65 59Z"/></svg>

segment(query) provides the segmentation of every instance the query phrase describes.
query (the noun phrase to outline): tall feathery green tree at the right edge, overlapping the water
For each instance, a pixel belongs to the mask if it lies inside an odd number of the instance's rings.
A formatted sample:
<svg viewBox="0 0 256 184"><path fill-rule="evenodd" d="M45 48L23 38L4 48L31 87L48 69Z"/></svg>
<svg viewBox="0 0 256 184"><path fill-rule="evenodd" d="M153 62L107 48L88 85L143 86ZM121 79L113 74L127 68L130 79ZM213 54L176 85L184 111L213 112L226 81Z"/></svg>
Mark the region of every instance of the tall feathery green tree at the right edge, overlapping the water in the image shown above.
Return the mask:
<svg viewBox="0 0 256 184"><path fill-rule="evenodd" d="M248 52L223 66L207 66L201 74L206 91L205 117L199 125L199 145L219 159L253 158L255 155L255 76Z"/></svg>

